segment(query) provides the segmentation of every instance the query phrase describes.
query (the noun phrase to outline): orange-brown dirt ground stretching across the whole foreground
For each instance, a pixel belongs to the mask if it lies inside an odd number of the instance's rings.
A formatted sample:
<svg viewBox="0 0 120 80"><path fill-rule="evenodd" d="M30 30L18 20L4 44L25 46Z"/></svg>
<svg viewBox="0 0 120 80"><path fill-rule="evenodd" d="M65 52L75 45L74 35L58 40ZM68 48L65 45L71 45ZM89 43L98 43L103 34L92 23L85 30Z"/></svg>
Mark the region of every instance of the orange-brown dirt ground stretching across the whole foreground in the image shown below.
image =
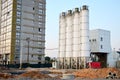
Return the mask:
<svg viewBox="0 0 120 80"><path fill-rule="evenodd" d="M52 69L52 68L25 68L0 69L0 80L63 80L63 74L72 74L74 80L113 79L120 80L120 69ZM110 76L112 75L112 76Z"/></svg>

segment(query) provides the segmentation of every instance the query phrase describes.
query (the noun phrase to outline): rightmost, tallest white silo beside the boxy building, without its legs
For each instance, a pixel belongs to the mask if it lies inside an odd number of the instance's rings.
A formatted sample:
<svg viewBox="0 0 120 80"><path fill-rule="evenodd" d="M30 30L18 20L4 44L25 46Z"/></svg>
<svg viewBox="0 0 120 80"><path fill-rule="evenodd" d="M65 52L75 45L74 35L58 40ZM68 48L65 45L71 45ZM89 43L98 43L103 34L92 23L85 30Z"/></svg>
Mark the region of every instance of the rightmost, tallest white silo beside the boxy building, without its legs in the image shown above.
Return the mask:
<svg viewBox="0 0 120 80"><path fill-rule="evenodd" d="M81 15L81 57L89 57L89 10L86 5L82 7Z"/></svg>

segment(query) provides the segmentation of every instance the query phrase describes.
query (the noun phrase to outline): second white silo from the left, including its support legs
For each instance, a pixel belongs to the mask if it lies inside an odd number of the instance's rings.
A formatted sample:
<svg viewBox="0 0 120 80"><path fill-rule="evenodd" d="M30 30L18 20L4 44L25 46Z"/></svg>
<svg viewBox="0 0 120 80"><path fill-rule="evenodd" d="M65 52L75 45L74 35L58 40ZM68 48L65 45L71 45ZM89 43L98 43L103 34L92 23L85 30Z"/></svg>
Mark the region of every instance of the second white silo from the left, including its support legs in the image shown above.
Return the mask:
<svg viewBox="0 0 120 80"><path fill-rule="evenodd" d="M66 14L66 61L65 68L71 67L72 57L72 10Z"/></svg>

